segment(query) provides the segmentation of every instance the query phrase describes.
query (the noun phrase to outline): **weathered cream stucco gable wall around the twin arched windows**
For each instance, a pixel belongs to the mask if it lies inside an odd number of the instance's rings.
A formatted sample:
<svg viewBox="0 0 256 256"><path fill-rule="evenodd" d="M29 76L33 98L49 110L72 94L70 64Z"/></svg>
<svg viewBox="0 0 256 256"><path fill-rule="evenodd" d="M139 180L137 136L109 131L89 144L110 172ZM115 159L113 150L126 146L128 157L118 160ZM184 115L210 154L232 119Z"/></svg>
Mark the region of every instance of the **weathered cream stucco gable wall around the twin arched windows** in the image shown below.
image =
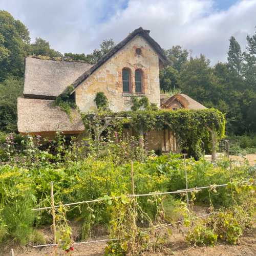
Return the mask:
<svg viewBox="0 0 256 256"><path fill-rule="evenodd" d="M141 49L141 55L136 49ZM122 92L122 69L131 70L131 93ZM135 70L143 72L143 93L135 93ZM160 106L159 57L147 41L136 36L125 47L106 61L76 89L76 104L82 112L94 110L97 92L104 92L114 112L131 109L131 96L145 95L150 102Z"/></svg>

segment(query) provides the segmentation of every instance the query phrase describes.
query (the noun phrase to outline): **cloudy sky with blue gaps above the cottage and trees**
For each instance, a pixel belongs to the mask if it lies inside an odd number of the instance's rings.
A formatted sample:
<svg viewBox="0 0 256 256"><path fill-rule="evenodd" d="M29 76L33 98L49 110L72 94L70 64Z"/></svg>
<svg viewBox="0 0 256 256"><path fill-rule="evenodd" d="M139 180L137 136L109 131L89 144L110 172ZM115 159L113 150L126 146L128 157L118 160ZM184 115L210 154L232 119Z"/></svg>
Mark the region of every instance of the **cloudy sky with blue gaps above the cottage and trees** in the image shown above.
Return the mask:
<svg viewBox="0 0 256 256"><path fill-rule="evenodd" d="M138 27L165 48L181 45L212 63L225 61L228 39L245 49L256 31L256 0L0 0L28 28L62 53L91 53L103 39L122 40Z"/></svg>

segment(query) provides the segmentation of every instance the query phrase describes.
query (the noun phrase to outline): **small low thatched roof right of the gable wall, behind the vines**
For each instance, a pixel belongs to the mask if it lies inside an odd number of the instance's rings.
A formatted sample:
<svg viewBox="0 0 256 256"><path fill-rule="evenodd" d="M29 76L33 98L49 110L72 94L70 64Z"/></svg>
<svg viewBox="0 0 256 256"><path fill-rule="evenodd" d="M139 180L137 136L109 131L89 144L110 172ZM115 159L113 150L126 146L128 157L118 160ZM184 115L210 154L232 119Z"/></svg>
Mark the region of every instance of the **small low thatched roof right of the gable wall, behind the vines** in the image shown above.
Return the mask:
<svg viewBox="0 0 256 256"><path fill-rule="evenodd" d="M191 110L202 110L206 109L206 107L196 100L190 98L186 94L179 93L175 94L170 98L161 98L161 108L169 109L172 107L172 103L177 100L183 106L184 109L191 109Z"/></svg>

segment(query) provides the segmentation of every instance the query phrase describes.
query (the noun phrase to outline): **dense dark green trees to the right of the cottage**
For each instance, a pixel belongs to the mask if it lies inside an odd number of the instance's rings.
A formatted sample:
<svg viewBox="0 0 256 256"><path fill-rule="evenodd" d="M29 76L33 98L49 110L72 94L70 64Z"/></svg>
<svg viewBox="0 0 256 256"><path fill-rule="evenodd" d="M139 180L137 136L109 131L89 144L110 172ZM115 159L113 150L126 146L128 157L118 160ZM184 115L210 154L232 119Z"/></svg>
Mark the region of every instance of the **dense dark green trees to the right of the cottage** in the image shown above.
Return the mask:
<svg viewBox="0 0 256 256"><path fill-rule="evenodd" d="M204 55L188 57L188 51L180 46L166 50L174 64L161 71L161 89L180 89L205 106L222 111L229 134L256 132L256 33L246 39L246 51L242 52L231 36L227 62L214 67Z"/></svg>

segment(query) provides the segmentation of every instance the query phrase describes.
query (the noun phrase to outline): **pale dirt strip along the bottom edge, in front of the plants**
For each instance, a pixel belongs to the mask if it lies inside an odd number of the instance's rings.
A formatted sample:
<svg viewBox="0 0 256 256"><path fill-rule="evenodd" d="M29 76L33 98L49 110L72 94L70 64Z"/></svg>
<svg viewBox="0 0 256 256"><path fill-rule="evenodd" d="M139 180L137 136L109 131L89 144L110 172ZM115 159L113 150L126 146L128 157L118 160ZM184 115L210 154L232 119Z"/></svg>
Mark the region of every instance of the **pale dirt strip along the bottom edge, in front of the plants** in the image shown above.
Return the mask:
<svg viewBox="0 0 256 256"><path fill-rule="evenodd" d="M101 237L100 239L104 239ZM94 243L87 245L75 246L75 250L72 253L73 256L98 256L104 254L105 243ZM166 248L165 252L158 253L144 253L143 255L177 255L177 256L254 256L256 255L256 228L254 228L251 232L246 233L243 237L240 238L239 245L229 245L229 244L218 244L214 247L210 246L199 246L193 247L185 242L182 234L177 230L173 229L173 235L170 238L169 247ZM15 252L15 251L14 251ZM0 255L10 255L10 253L1 254ZM34 249L34 248L24 248L22 250L17 250L15 252L15 256L53 256L54 248L42 248L42 249ZM58 250L57 255L67 255L67 253Z"/></svg>

